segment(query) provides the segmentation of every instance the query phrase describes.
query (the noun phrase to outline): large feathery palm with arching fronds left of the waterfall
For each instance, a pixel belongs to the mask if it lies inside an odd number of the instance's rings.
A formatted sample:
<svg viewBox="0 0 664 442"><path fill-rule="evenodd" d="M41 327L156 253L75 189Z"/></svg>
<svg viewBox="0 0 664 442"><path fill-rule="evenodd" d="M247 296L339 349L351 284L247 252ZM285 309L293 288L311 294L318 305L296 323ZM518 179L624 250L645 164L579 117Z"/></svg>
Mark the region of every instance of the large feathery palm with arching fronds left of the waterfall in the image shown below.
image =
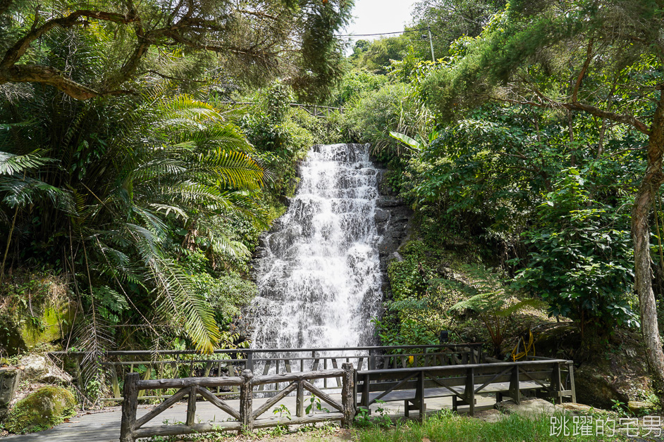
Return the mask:
<svg viewBox="0 0 664 442"><path fill-rule="evenodd" d="M101 308L99 318L118 322L126 311L118 299L131 296L135 307L154 308L176 334L187 334L194 346L210 351L219 329L173 255L174 231L183 231L194 243L204 238L207 246L202 246L217 256L246 254L244 246L199 220L239 217L264 227L266 215L256 201L264 169L239 128L191 96L145 96L135 103L118 99L97 106L59 108L73 122L67 144L54 140L59 147L50 152L49 164L57 168L46 173L49 166L43 165L25 176L16 171L0 175L10 208L8 198L28 194L19 185L26 179L47 177L45 185L59 195L51 204L40 204L36 213L17 206L16 227L30 241L23 255L47 261L49 253L59 258L68 251L66 267L74 270L75 287L88 301L82 308ZM102 109L122 115L119 124L90 116ZM58 127L56 121L41 124L48 130ZM40 130L36 124L17 127L1 134L0 141L5 149L21 149L8 139L39 144ZM42 225L42 219L51 221Z"/></svg>

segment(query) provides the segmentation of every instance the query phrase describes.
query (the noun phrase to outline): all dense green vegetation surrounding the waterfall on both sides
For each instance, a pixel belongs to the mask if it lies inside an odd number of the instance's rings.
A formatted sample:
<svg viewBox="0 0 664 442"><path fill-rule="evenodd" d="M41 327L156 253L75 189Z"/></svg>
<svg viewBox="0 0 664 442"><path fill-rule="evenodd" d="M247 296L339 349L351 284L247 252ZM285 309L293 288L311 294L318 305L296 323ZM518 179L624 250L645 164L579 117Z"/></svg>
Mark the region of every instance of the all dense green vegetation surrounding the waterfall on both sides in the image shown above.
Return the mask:
<svg viewBox="0 0 664 442"><path fill-rule="evenodd" d="M383 343L468 337L474 310L503 357L512 315L544 305L583 339L640 328L662 389L660 2L422 0L346 59L352 2L244 3L0 1L4 322L63 296L70 346L242 345L297 162L369 142L417 227Z"/></svg>

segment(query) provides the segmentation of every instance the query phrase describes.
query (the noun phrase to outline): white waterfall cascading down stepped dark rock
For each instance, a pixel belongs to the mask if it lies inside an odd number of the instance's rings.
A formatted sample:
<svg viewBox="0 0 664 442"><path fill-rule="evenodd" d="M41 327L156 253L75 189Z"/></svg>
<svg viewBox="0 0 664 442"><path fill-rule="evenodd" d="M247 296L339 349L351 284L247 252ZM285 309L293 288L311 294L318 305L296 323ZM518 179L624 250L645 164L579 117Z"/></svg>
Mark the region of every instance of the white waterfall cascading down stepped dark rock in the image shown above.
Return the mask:
<svg viewBox="0 0 664 442"><path fill-rule="evenodd" d="M370 345L381 302L369 145L317 145L255 265L253 348Z"/></svg>

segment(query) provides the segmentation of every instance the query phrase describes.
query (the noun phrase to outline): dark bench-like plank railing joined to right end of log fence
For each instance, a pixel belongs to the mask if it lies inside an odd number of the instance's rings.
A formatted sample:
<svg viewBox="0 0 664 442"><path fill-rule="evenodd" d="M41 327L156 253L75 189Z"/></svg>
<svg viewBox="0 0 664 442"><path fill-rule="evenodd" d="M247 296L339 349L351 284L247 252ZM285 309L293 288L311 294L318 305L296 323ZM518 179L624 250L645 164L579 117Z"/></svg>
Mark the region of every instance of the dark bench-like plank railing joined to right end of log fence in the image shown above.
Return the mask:
<svg viewBox="0 0 664 442"><path fill-rule="evenodd" d="M403 400L406 411L410 403L415 410L424 410L425 398L452 397L453 408L460 400L459 405L469 405L473 415L478 393L495 393L496 401L502 400L505 394L519 403L524 390L546 391L557 402L562 402L563 397L576 402L571 360L542 358L447 367L358 370L356 377L355 388L361 393L357 405L363 408L369 408L377 400Z"/></svg>

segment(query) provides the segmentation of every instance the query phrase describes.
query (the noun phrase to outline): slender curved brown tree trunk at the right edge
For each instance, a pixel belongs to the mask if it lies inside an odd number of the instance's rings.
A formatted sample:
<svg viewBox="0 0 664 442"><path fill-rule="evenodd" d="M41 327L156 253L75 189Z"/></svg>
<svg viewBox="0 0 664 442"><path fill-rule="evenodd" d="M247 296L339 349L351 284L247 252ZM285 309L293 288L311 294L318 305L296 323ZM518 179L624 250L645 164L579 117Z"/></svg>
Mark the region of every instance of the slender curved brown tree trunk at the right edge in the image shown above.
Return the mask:
<svg viewBox="0 0 664 442"><path fill-rule="evenodd" d="M659 336L657 304L653 292L650 255L650 225L648 217L653 199L664 182L662 156L664 153L664 93L660 95L648 139L648 165L632 208L632 240L634 241L634 284L639 294L641 331L646 344L646 356L651 377L660 403L664 404L664 351Z"/></svg>

